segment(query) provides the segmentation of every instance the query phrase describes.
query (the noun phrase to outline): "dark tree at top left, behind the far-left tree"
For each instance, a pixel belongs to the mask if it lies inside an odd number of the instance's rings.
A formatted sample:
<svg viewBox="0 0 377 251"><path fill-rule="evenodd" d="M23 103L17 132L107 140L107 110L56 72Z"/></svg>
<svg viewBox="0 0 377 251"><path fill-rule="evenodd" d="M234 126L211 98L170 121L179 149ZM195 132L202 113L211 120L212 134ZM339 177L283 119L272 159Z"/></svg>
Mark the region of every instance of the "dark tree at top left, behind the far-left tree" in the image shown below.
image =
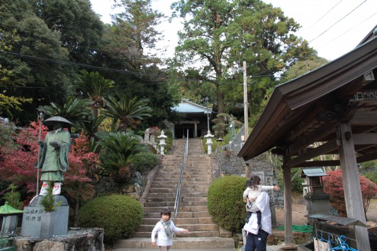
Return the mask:
<svg viewBox="0 0 377 251"><path fill-rule="evenodd" d="M69 60L91 64L104 23L90 8L88 0L30 0L36 15L47 27L61 34L61 45Z"/></svg>

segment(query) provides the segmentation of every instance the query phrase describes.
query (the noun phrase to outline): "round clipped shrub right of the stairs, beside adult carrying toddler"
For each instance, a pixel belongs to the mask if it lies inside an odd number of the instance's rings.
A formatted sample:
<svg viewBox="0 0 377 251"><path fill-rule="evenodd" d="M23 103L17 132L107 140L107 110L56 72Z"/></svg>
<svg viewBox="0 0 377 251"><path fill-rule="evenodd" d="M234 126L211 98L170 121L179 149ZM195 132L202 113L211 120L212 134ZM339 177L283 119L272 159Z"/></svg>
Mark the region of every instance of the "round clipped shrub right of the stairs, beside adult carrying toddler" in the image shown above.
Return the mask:
<svg viewBox="0 0 377 251"><path fill-rule="evenodd" d="M219 226L232 232L241 232L245 224L246 209L243 191L247 178L223 176L208 188L208 211Z"/></svg>

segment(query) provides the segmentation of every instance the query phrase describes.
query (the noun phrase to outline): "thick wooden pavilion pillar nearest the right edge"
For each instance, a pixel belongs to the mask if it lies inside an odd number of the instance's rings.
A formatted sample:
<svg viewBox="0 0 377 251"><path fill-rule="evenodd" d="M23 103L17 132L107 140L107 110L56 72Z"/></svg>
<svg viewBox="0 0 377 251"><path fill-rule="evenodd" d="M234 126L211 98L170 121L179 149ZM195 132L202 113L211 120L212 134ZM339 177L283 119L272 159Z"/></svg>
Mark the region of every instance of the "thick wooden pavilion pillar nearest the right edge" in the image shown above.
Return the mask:
<svg viewBox="0 0 377 251"><path fill-rule="evenodd" d="M338 130L341 138L339 158L341 163L341 173L343 179L345 208L347 209L347 216L350 218L358 219L359 221L365 223L360 177L358 176L354 140L352 139L350 122L339 122ZM355 237L358 250L370 251L367 228L356 226Z"/></svg>

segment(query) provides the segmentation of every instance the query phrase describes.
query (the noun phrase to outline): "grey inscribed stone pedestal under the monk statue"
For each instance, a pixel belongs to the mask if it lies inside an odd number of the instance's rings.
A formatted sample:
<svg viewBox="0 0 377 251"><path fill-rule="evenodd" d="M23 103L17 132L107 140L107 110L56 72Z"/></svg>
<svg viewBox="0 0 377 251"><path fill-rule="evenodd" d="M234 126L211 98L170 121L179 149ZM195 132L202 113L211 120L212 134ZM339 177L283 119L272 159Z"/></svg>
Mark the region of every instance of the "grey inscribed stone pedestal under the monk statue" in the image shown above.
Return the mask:
<svg viewBox="0 0 377 251"><path fill-rule="evenodd" d="M68 217L69 217L69 205L66 198L62 195L54 195L54 202L60 203L60 206L56 206L56 211L51 214L51 221L53 222L53 236L56 235L66 235L68 232ZM30 202L28 206L25 206L23 213L22 226L21 226L21 236L24 237L39 237L40 228L42 226L42 218L45 215L45 210L43 209L40 201L43 196L36 196Z"/></svg>

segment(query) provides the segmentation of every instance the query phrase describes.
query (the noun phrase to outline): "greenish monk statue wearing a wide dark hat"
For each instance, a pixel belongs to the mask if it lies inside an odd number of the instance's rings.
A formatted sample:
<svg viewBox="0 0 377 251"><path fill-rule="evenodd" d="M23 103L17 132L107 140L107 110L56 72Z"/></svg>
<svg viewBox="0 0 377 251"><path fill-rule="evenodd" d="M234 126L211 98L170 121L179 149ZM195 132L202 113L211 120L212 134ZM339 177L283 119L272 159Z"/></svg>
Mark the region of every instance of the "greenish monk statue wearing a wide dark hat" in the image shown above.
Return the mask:
<svg viewBox="0 0 377 251"><path fill-rule="evenodd" d="M63 128L71 128L72 123L63 117L51 117L43 121L43 123L51 130L45 138L45 141L38 141L39 145L39 166L42 168L42 188L39 195L47 194L47 186L49 182L53 182L53 195L60 195L63 173L69 169L68 154L71 148L71 134Z"/></svg>

